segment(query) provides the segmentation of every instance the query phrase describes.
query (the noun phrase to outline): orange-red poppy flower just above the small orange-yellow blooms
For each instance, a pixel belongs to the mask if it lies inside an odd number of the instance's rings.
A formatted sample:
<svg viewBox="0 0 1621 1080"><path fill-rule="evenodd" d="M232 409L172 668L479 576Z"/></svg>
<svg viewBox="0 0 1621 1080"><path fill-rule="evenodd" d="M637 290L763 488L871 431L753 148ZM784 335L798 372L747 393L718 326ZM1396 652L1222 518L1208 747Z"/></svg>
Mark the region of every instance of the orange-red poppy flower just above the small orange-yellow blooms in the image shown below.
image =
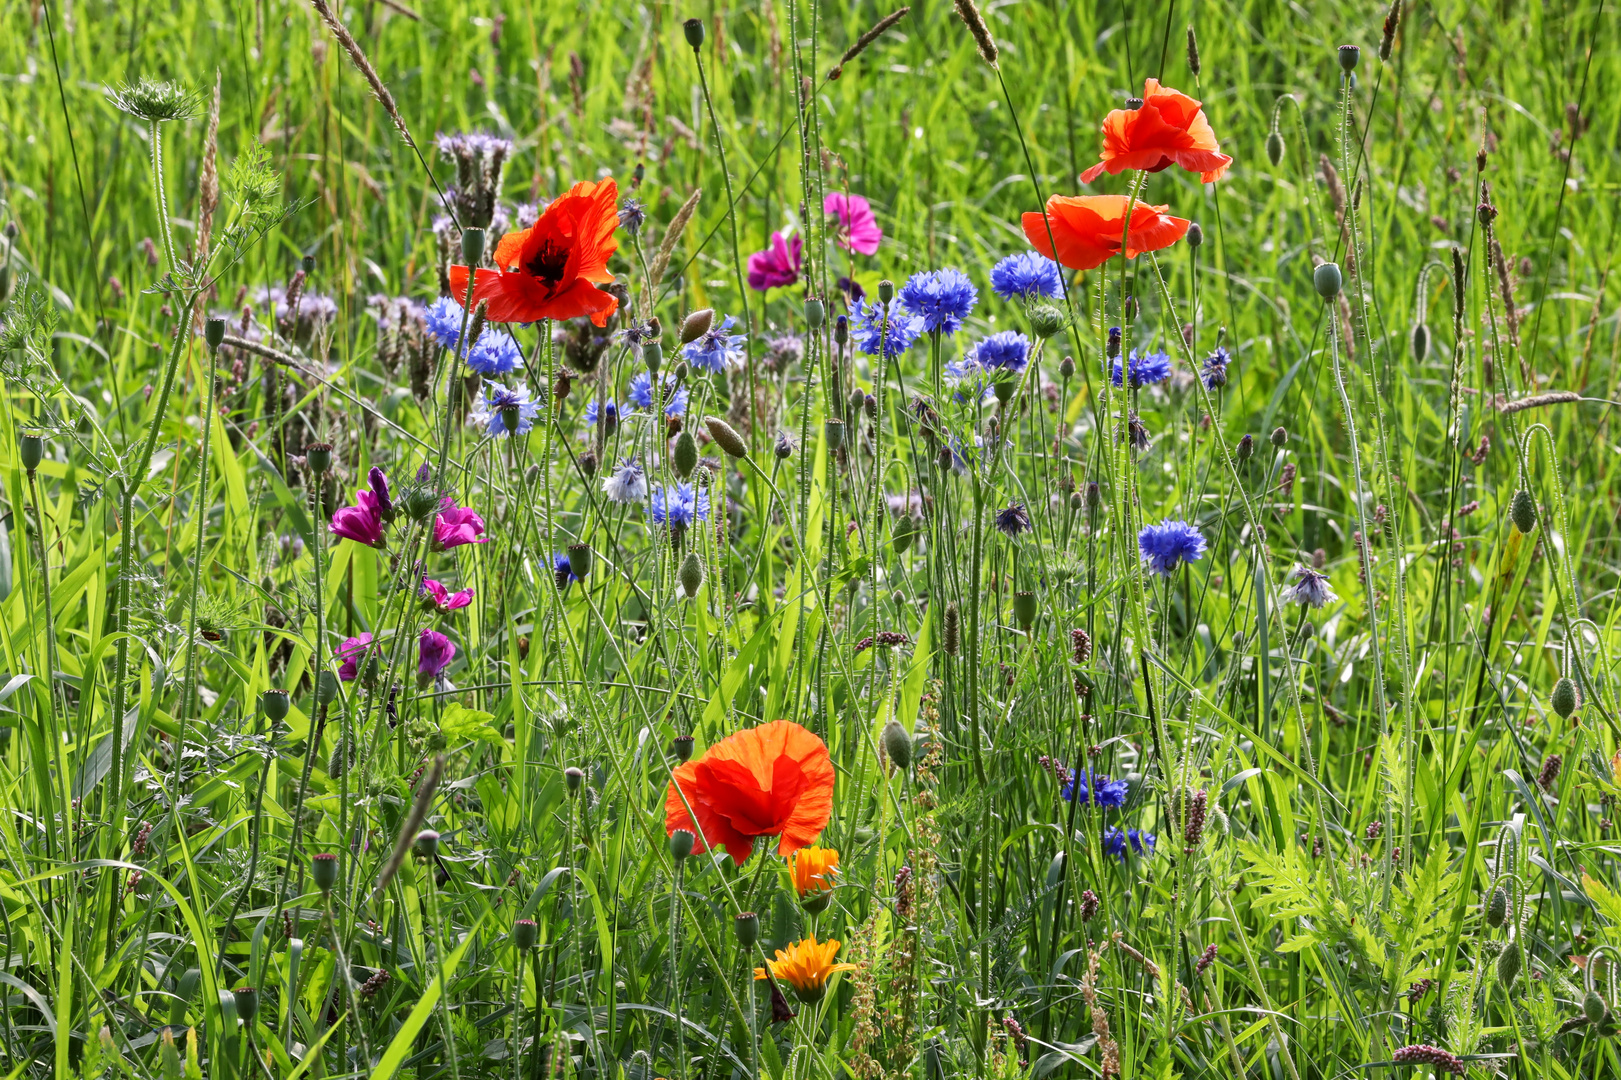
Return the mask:
<svg viewBox="0 0 1621 1080"><path fill-rule="evenodd" d="M832 816L827 744L793 720L715 743L704 757L678 765L665 793L666 834L686 829L697 835L694 851L725 848L738 864L749 859L755 837L781 837L778 853L791 855L814 843Z"/></svg>

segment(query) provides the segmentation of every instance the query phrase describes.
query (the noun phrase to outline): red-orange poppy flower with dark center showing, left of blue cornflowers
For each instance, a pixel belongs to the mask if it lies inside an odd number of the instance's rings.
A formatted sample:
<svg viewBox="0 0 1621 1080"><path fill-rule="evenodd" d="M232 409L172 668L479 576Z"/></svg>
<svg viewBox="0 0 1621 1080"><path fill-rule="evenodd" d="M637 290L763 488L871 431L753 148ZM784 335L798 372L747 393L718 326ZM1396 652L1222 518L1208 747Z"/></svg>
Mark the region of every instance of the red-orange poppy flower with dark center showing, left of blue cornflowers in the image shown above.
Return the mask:
<svg viewBox="0 0 1621 1080"><path fill-rule="evenodd" d="M528 229L509 232L496 245L496 269L473 277L473 303L490 302L491 323L535 323L592 316L606 326L619 300L598 289L613 281L608 258L619 250L619 185L613 177L580 182L553 199ZM467 268L451 268L451 295L467 297Z"/></svg>

